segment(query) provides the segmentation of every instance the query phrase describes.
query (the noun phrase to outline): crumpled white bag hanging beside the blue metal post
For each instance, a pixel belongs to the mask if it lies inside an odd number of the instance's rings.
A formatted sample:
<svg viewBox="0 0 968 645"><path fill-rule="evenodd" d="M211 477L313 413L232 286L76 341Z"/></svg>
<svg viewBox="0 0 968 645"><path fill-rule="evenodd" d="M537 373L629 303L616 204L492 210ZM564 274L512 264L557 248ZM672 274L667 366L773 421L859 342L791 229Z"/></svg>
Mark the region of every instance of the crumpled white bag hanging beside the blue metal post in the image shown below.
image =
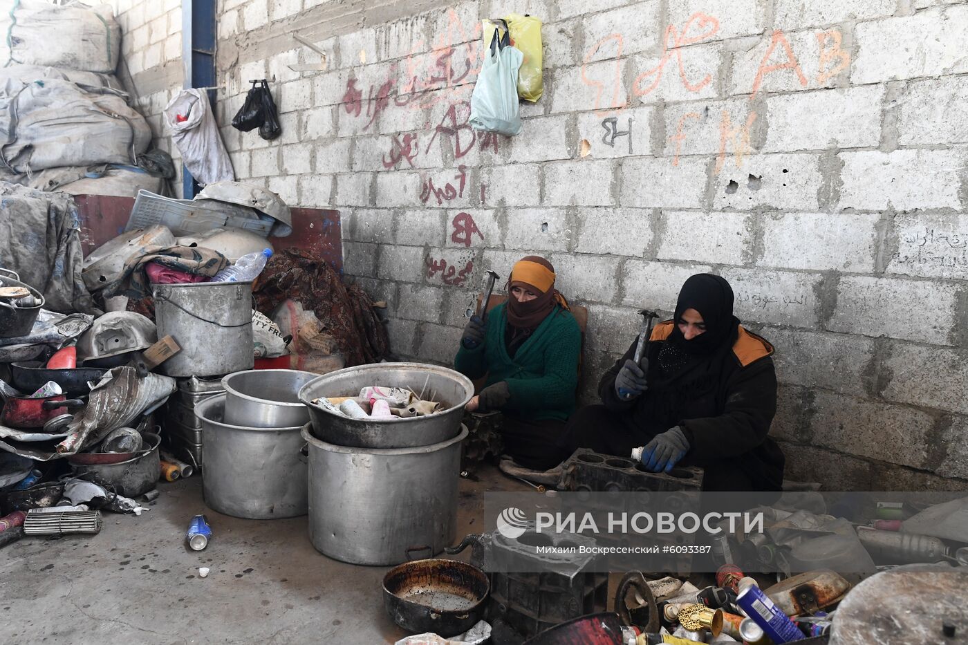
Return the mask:
<svg viewBox="0 0 968 645"><path fill-rule="evenodd" d="M204 91L192 88L179 92L165 108L165 123L185 168L199 184L235 179L226 144Z"/></svg>

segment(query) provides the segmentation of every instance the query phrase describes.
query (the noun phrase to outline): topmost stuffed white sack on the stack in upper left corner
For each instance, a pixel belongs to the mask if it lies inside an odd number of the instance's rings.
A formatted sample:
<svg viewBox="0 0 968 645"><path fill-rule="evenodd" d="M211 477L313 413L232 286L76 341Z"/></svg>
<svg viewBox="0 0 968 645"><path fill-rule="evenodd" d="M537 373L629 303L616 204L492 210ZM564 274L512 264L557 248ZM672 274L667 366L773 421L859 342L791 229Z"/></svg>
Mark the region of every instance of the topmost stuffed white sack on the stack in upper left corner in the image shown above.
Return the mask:
<svg viewBox="0 0 968 645"><path fill-rule="evenodd" d="M109 5L57 7L44 0L0 0L4 63L114 74L121 27Z"/></svg>

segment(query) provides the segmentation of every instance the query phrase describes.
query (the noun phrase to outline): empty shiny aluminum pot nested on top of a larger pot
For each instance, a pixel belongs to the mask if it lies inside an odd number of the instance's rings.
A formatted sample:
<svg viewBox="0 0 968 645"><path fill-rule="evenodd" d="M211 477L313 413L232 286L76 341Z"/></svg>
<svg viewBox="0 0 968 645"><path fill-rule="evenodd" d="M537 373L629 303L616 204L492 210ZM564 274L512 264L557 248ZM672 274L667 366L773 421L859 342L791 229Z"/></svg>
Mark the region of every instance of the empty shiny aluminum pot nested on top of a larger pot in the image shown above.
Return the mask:
<svg viewBox="0 0 968 645"><path fill-rule="evenodd" d="M246 370L222 379L226 390L225 422L258 428L302 426L309 410L296 396L299 388L319 377L299 370Z"/></svg>

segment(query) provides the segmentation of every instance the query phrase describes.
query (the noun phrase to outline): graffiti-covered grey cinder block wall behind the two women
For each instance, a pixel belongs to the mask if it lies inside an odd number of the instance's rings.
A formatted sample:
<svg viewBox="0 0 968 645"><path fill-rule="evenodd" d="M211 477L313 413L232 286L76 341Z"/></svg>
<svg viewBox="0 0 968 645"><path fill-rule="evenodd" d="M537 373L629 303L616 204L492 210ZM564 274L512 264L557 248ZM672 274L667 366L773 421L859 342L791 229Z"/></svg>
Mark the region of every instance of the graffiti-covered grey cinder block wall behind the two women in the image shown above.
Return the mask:
<svg viewBox="0 0 968 645"><path fill-rule="evenodd" d="M965 3L365 4L224 0L218 113L240 178L341 210L396 353L449 362L484 271L537 253L589 308L590 401L636 311L712 271L777 348L788 478L968 487ZM545 94L505 138L469 100L512 6L546 20ZM142 100L172 74L142 60ZM261 77L272 142L228 126Z"/></svg>

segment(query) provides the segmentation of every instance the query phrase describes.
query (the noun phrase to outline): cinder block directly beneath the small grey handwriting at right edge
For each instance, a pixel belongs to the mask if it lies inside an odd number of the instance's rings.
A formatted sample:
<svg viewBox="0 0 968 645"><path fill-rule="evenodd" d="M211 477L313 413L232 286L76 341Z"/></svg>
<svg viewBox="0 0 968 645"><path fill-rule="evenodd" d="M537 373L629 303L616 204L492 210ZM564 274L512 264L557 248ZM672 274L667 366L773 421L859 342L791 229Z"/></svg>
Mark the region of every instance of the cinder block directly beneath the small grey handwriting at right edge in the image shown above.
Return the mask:
<svg viewBox="0 0 968 645"><path fill-rule="evenodd" d="M958 288L896 278L844 276L837 287L832 331L950 345L957 319Z"/></svg>

